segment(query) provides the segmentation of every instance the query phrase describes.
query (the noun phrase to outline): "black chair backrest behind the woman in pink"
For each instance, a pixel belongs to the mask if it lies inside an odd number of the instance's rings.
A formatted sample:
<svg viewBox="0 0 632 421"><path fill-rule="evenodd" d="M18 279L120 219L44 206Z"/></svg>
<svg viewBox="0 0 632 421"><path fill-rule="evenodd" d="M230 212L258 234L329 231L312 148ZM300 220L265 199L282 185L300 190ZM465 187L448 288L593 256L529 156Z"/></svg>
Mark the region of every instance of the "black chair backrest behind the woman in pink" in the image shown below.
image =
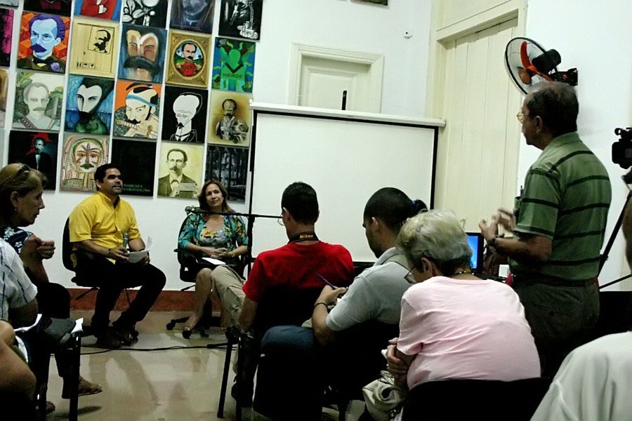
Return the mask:
<svg viewBox="0 0 632 421"><path fill-rule="evenodd" d="M404 402L403 421L531 419L551 379L434 380L411 389Z"/></svg>

